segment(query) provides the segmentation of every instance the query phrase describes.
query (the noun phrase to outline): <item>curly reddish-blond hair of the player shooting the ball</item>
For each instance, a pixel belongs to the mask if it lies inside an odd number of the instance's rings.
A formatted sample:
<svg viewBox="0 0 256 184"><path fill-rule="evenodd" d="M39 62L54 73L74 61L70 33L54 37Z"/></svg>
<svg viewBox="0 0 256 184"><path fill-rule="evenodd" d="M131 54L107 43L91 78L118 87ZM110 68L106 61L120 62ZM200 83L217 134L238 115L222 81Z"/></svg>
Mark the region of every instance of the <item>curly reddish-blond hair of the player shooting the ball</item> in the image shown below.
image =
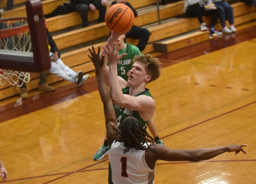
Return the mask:
<svg viewBox="0 0 256 184"><path fill-rule="evenodd" d="M158 58L151 57L150 54L141 54L135 55L132 62L138 62L145 66L147 74L151 75L151 80L148 83L159 78L161 73L161 63Z"/></svg>

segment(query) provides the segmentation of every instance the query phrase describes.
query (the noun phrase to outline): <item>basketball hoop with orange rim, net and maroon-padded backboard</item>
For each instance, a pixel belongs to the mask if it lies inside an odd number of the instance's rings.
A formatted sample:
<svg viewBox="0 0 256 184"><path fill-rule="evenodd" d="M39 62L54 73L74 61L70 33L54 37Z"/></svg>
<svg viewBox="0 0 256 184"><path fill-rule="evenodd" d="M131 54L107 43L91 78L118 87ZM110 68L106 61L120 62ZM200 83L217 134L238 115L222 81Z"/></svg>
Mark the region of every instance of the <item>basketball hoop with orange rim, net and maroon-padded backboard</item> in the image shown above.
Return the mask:
<svg viewBox="0 0 256 184"><path fill-rule="evenodd" d="M29 72L51 66L42 2L26 0L25 5L27 17L0 19L1 84L22 85Z"/></svg>

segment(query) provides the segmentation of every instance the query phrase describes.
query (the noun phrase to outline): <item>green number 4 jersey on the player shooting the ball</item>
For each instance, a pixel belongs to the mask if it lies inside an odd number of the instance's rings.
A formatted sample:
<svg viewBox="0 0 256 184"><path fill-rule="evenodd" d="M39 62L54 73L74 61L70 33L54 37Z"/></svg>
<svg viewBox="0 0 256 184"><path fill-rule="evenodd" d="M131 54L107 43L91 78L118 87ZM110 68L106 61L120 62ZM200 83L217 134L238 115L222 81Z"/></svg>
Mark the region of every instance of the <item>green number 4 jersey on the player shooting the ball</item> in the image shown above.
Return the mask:
<svg viewBox="0 0 256 184"><path fill-rule="evenodd" d="M125 87L124 89L122 89L123 94L129 94L129 89L130 89L130 87ZM135 97L138 97L140 95L146 95L148 97L153 98L147 88L144 92L141 92L140 94L137 94ZM122 122L125 118L127 118L129 116L132 116L132 117L136 118L137 120L139 120L141 125L146 129L146 126L147 126L147 123L148 123L149 119L144 121L141 118L141 116L139 115L138 111L134 111L132 109L127 109L127 108L121 107L117 104L113 104L113 106L114 106L114 109L115 109L115 115L116 115L116 118L117 118L117 126L118 127L120 127L122 125Z"/></svg>

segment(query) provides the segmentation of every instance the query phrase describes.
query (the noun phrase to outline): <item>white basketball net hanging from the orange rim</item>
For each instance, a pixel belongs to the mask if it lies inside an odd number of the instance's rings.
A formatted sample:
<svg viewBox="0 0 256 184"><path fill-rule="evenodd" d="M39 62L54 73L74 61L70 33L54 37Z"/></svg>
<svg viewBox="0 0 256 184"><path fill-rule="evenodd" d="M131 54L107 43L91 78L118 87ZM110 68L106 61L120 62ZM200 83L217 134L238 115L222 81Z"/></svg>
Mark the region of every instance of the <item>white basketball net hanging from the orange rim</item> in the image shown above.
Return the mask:
<svg viewBox="0 0 256 184"><path fill-rule="evenodd" d="M13 53L19 52L31 52L32 44L26 21L26 17L16 18L16 21L10 21L9 19L1 22L0 29L0 49L9 50ZM18 20L18 22L17 22ZM6 37L5 37L6 35ZM4 38L2 38L4 37ZM0 84L5 85L10 83L11 85L22 86L24 83L28 83L30 80L30 73L23 71L12 71L6 69L0 69Z"/></svg>

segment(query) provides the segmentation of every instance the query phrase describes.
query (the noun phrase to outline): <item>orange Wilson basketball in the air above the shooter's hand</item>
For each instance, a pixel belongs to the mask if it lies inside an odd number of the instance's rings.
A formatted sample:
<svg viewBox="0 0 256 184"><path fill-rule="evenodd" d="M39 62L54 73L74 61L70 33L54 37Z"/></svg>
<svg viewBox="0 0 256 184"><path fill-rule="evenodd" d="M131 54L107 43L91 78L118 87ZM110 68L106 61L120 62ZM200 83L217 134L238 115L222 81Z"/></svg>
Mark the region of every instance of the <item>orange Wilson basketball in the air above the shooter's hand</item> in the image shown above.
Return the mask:
<svg viewBox="0 0 256 184"><path fill-rule="evenodd" d="M134 13L127 5L112 5L105 14L105 23L115 33L127 33L134 24Z"/></svg>

